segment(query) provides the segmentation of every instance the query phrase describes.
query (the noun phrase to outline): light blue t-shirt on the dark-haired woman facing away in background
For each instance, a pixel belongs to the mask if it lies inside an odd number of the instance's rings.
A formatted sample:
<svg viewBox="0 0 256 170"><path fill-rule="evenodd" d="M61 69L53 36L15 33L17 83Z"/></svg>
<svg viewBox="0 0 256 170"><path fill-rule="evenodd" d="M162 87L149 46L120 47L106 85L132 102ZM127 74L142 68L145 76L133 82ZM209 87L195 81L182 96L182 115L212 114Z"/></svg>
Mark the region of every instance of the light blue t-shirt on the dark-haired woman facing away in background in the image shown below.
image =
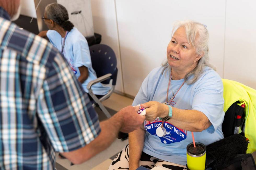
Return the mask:
<svg viewBox="0 0 256 170"><path fill-rule="evenodd" d="M62 38L61 35L55 30L48 30L46 35L52 45L61 52L64 38ZM82 84L84 91L88 93L86 87L90 81L97 78L97 75L92 68L88 42L75 27L68 33L66 37L63 54L77 78L80 76L78 67L85 66L88 68L88 78ZM94 84L91 89L96 95L105 95L110 90L110 87L97 83Z"/></svg>

